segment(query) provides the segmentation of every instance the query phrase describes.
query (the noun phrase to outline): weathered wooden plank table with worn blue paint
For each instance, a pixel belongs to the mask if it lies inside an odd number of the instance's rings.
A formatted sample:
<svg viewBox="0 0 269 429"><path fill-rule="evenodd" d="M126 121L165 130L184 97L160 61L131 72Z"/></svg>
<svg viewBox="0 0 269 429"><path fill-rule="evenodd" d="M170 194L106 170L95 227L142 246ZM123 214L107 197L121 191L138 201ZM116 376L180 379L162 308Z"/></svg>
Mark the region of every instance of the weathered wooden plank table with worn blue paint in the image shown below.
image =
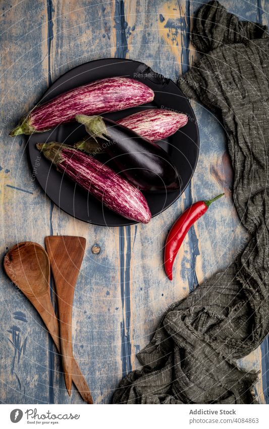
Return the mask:
<svg viewBox="0 0 269 429"><path fill-rule="evenodd" d="M12 5L11 5L12 3ZM87 248L74 297L73 347L95 403L109 403L120 379L139 366L168 306L225 267L245 242L231 198L233 180L222 124L192 103L200 131L198 165L182 197L149 225L105 228L73 219L32 180L25 138L9 131L65 71L104 57L142 61L177 80L195 61L190 30L201 1L24 0L1 2L2 255L16 242L44 244L49 234L82 235ZM223 0L241 19L268 23L266 0ZM265 12L267 11L267 14ZM225 190L190 231L170 282L163 269L167 232L193 201ZM100 246L93 254L92 246ZM1 389L3 403L82 403L69 398L59 356L25 297L2 272ZM260 403L269 402L268 338L240 364L261 370Z"/></svg>

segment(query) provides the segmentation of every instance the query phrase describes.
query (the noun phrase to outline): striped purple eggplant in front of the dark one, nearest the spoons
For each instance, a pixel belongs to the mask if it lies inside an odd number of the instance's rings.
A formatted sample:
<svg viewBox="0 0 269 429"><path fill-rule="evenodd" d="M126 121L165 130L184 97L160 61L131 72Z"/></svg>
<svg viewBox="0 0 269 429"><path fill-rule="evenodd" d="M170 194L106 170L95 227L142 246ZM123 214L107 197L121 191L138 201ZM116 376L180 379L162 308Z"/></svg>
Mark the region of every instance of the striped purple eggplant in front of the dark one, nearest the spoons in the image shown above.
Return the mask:
<svg viewBox="0 0 269 429"><path fill-rule="evenodd" d="M111 168L76 149L52 141L36 145L44 156L106 207L136 222L148 223L151 213L143 194Z"/></svg>

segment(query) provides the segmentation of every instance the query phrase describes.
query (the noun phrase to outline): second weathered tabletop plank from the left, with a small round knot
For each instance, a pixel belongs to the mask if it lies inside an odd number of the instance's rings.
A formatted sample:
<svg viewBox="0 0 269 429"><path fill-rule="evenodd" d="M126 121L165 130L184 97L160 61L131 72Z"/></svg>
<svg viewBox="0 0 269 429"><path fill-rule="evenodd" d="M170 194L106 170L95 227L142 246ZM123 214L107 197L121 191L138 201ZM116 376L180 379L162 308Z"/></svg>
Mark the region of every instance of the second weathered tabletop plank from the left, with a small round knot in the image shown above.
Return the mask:
<svg viewBox="0 0 269 429"><path fill-rule="evenodd" d="M53 3L53 80L81 63L114 56L114 15L113 4L96 6L95 2L91 5L85 0ZM73 348L94 403L109 402L118 384L118 374L121 377L122 373L119 230L77 221L56 206L52 210L51 228L53 234L77 234L87 240L74 297ZM100 247L99 254L91 251L95 244ZM81 402L75 392L70 399L67 397L62 376L55 378L55 385L63 387L55 395L56 402Z"/></svg>

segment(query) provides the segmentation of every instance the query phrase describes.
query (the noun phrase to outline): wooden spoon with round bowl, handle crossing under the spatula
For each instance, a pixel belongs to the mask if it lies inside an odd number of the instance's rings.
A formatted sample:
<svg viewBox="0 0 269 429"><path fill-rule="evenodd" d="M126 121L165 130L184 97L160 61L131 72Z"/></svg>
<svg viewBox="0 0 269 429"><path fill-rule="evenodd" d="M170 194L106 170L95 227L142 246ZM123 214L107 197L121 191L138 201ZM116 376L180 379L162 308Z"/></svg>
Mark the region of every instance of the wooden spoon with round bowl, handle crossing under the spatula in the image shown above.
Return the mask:
<svg viewBox="0 0 269 429"><path fill-rule="evenodd" d="M46 251L37 243L19 243L5 256L4 269L40 314L58 352L61 353L59 323L50 301L49 259ZM86 380L75 359L72 378L84 401L92 404Z"/></svg>

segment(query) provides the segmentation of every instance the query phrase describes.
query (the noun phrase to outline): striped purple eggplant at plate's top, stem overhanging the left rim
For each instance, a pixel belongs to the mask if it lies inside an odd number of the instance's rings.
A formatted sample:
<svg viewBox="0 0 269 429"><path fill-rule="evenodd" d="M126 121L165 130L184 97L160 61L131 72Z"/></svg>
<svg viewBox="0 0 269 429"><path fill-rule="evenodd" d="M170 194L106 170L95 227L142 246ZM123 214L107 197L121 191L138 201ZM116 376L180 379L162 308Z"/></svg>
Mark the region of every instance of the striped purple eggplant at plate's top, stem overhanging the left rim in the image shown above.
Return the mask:
<svg viewBox="0 0 269 429"><path fill-rule="evenodd" d="M152 89L128 77L96 80L35 107L10 135L47 131L57 125L73 121L79 114L98 115L115 112L151 102L153 98Z"/></svg>

